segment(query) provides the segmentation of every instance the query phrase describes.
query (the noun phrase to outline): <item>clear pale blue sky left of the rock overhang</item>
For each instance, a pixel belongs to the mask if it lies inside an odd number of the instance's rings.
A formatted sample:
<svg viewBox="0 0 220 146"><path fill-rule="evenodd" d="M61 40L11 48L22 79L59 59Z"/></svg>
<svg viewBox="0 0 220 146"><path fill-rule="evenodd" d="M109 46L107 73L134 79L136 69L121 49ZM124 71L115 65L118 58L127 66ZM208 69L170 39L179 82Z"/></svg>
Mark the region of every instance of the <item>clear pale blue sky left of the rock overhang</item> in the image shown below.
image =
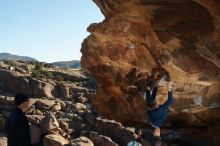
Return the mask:
<svg viewBox="0 0 220 146"><path fill-rule="evenodd" d="M0 53L79 60L87 27L103 19L92 0L0 0Z"/></svg>

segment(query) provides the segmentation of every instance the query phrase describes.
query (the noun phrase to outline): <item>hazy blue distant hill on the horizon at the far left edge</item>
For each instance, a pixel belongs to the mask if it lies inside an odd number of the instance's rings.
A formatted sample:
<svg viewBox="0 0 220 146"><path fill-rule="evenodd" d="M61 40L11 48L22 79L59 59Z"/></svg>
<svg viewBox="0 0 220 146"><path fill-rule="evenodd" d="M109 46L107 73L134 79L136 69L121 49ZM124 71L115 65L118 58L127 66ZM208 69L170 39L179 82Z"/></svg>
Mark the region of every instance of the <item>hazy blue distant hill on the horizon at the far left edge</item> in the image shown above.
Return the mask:
<svg viewBox="0 0 220 146"><path fill-rule="evenodd" d="M0 53L0 60L38 61L31 57L12 55L9 53Z"/></svg>

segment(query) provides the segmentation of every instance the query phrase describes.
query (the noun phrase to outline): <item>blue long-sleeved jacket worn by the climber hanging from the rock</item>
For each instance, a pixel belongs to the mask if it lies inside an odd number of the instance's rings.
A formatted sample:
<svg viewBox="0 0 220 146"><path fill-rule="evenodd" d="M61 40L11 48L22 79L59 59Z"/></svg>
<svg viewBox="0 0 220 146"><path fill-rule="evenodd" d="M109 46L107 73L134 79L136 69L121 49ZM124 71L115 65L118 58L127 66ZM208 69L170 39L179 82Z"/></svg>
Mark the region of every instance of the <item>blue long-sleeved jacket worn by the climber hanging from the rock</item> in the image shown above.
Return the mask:
<svg viewBox="0 0 220 146"><path fill-rule="evenodd" d="M152 91L152 95L150 94L150 91L146 91L146 99L147 103L155 100L157 94L157 87L155 87ZM171 91L168 91L168 99L163 104L160 105L157 109L149 109L147 110L148 113L148 123L152 126L161 127L166 120L168 108L173 103L173 95Z"/></svg>

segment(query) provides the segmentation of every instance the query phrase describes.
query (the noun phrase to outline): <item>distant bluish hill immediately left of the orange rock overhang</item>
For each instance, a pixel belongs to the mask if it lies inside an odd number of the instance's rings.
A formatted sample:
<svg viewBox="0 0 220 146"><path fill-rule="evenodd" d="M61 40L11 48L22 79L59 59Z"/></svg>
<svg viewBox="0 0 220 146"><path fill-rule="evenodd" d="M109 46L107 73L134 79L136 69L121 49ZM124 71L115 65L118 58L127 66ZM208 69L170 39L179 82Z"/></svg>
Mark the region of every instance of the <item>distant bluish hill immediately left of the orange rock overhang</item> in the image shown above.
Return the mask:
<svg viewBox="0 0 220 146"><path fill-rule="evenodd" d="M70 67L70 68L80 68L80 61L79 60L72 60L72 61L59 61L52 63L58 67Z"/></svg>

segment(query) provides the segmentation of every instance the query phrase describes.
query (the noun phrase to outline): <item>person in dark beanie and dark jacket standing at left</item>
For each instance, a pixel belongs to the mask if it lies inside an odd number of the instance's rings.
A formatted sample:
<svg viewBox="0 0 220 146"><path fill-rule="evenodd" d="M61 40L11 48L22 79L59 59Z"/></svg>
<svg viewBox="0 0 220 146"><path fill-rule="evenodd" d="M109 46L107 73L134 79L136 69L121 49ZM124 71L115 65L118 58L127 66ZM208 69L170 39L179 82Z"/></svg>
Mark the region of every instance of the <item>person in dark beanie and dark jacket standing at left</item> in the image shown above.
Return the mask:
<svg viewBox="0 0 220 146"><path fill-rule="evenodd" d="M32 146L29 122L24 112L29 107L29 97L19 93L15 96L16 108L7 120L8 146Z"/></svg>

